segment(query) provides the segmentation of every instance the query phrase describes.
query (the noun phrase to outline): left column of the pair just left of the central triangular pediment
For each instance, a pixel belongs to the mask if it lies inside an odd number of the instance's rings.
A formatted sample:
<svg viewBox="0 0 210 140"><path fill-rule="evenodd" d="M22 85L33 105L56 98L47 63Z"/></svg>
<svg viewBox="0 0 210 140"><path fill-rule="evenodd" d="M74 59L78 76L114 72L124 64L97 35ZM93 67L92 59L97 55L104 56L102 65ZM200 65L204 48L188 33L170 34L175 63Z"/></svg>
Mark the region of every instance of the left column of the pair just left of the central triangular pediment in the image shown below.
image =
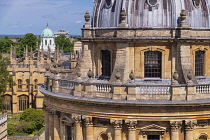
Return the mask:
<svg viewBox="0 0 210 140"><path fill-rule="evenodd" d="M111 119L110 122L114 126L114 140L122 139L122 120Z"/></svg>

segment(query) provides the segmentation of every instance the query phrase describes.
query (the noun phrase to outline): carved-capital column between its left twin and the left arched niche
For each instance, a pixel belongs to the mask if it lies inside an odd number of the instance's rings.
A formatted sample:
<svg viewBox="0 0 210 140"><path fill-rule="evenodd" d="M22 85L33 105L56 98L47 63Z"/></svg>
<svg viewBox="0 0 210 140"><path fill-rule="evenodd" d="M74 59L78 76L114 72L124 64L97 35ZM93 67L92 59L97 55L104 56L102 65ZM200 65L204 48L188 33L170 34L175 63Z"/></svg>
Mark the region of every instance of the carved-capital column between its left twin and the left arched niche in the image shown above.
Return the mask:
<svg viewBox="0 0 210 140"><path fill-rule="evenodd" d="M94 140L92 117L85 117L86 140Z"/></svg>

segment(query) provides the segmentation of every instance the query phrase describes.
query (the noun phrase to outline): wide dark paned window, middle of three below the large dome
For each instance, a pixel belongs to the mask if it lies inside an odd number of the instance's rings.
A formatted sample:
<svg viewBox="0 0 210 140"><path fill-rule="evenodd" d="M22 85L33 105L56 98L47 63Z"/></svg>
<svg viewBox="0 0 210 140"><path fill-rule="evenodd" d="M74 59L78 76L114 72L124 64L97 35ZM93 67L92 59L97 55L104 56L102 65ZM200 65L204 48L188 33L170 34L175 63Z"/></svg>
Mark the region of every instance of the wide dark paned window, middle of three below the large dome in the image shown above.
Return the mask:
<svg viewBox="0 0 210 140"><path fill-rule="evenodd" d="M144 53L144 77L161 78L162 53L147 51Z"/></svg>

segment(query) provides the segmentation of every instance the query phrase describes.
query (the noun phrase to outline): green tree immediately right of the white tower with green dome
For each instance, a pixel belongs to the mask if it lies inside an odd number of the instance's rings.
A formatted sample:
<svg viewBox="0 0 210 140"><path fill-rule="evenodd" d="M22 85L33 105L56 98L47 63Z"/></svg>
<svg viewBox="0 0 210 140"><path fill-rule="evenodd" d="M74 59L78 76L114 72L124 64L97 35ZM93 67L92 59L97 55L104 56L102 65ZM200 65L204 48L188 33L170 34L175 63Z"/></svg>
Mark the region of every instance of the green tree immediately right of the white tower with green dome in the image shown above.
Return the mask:
<svg viewBox="0 0 210 140"><path fill-rule="evenodd" d="M55 45L59 46L59 49L63 49L64 53L73 52L73 43L65 35L59 35L55 38Z"/></svg>

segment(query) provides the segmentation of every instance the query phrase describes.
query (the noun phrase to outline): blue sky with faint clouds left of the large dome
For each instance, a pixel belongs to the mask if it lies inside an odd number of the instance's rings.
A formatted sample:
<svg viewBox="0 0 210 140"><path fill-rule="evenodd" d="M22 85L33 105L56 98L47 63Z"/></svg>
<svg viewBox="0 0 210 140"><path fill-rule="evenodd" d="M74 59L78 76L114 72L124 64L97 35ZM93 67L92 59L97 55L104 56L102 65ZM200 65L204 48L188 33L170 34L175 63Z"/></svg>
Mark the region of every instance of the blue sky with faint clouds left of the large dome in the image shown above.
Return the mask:
<svg viewBox="0 0 210 140"><path fill-rule="evenodd" d="M93 0L0 0L0 35L40 35L47 23L81 35L86 10L92 13Z"/></svg>

